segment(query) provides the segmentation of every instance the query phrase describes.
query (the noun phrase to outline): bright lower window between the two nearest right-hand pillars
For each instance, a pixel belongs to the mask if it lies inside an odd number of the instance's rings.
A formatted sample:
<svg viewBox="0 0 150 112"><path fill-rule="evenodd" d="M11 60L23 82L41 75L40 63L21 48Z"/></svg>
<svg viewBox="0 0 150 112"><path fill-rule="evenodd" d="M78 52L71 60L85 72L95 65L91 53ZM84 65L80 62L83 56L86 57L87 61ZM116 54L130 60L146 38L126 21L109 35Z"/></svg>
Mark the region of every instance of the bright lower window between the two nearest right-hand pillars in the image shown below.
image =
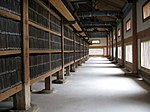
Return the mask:
<svg viewBox="0 0 150 112"><path fill-rule="evenodd" d="M132 45L126 45L126 61L132 63Z"/></svg>

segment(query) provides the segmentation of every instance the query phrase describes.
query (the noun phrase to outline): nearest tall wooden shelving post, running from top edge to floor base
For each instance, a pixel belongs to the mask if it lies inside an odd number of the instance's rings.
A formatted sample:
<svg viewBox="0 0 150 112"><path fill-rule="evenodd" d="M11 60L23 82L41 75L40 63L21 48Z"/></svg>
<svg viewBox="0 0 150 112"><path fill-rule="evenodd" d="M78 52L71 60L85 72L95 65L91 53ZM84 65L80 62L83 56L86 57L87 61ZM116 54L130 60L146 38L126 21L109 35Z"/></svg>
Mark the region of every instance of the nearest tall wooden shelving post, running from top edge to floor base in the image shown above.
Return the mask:
<svg viewBox="0 0 150 112"><path fill-rule="evenodd" d="M31 107L30 93L30 68L29 68L29 24L28 24L28 0L22 1L23 5L23 90L14 95L14 108L28 110Z"/></svg>

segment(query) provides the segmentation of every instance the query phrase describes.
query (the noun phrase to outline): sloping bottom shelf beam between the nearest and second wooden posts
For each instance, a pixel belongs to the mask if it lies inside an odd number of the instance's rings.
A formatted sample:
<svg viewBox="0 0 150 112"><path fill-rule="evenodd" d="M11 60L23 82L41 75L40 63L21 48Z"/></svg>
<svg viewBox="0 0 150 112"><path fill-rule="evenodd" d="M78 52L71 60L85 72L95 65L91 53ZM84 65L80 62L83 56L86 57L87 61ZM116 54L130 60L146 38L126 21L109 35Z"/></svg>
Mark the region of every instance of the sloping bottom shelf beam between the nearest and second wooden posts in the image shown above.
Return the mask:
<svg viewBox="0 0 150 112"><path fill-rule="evenodd" d="M58 67L58 68L56 68L54 70L51 70L51 71L49 71L49 72L47 72L47 73L45 73L45 74L43 74L43 75L41 75L39 77L36 77L36 78L32 79L30 81L30 85L32 85L33 83L36 83L36 82L38 82L40 80L43 80L43 79L45 79L46 77L48 77L50 75L53 75L54 73L60 71L61 69L62 69L62 67Z"/></svg>

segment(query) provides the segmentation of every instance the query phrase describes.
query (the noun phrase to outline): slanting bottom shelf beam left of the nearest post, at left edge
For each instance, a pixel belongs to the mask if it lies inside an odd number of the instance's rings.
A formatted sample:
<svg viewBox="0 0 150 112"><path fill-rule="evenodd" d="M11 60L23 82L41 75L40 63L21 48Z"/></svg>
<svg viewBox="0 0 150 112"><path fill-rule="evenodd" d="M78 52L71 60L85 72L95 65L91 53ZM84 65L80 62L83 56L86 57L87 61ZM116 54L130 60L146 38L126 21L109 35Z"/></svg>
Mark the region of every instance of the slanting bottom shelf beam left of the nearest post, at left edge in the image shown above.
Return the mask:
<svg viewBox="0 0 150 112"><path fill-rule="evenodd" d="M19 84L3 93L0 93L0 101L5 100L6 98L18 93L21 90L22 90L22 84Z"/></svg>

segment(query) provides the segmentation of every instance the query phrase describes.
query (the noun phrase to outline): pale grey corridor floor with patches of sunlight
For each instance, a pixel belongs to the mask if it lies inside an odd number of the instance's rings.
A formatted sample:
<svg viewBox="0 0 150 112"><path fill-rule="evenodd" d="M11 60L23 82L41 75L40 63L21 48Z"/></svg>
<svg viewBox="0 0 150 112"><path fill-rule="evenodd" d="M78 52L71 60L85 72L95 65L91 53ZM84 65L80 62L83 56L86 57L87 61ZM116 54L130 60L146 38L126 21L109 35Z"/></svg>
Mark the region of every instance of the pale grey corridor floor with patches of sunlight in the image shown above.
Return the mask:
<svg viewBox="0 0 150 112"><path fill-rule="evenodd" d="M32 89L40 90L43 82ZM150 112L150 88L141 79L125 77L106 58L90 58L52 94L32 94L40 112Z"/></svg>

